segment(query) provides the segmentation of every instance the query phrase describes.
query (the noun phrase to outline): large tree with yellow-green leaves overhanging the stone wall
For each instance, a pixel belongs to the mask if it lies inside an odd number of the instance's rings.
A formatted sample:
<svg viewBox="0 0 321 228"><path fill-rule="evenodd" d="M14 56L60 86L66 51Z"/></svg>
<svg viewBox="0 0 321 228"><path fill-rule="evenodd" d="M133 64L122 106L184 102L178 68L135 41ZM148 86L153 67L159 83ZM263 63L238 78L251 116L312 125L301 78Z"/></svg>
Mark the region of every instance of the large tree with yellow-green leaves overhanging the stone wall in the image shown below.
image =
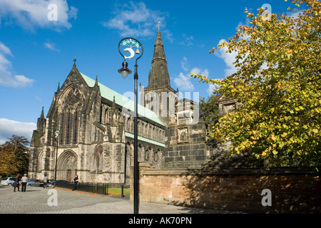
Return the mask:
<svg viewBox="0 0 321 228"><path fill-rule="evenodd" d="M321 155L321 2L292 0L290 15L245 9L250 26L239 26L218 50L237 52L237 72L214 83L217 93L241 103L210 130L230 140L230 155L247 153L268 167L320 165ZM210 53L217 51L213 48Z"/></svg>

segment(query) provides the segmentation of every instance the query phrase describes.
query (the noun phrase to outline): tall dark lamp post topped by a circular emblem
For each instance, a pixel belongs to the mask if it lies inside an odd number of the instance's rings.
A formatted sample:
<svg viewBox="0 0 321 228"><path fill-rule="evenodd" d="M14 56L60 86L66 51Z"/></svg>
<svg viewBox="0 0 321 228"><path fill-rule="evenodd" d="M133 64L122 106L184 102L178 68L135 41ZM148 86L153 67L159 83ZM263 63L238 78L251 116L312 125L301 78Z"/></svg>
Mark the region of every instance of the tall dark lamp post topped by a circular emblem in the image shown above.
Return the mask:
<svg viewBox="0 0 321 228"><path fill-rule="evenodd" d="M123 49L123 51L128 51L131 53L130 56L124 56L123 53L121 53L121 46L126 47ZM133 51L133 48L137 48L136 52ZM141 53L139 51L139 48L141 48ZM137 95L137 81L138 81L138 73L137 73L137 61L141 56L143 56L143 46L141 43L136 40L135 38L123 38L118 43L118 51L121 53L121 56L123 56L123 68L120 68L118 70L118 73L121 73L121 76L123 78L127 78L127 76L131 73L131 70L127 68L128 63L126 62L126 59L133 58L136 54L139 56L136 58L136 64L135 64L135 73L134 73L134 81L135 81L135 108L134 108L134 183L133 183L133 201L134 201L134 214L138 214L139 211L139 190L138 190L138 178L139 178L139 170L138 170L138 132L137 132L137 123L138 123L138 111L137 111L137 105L138 105L138 95Z"/></svg>

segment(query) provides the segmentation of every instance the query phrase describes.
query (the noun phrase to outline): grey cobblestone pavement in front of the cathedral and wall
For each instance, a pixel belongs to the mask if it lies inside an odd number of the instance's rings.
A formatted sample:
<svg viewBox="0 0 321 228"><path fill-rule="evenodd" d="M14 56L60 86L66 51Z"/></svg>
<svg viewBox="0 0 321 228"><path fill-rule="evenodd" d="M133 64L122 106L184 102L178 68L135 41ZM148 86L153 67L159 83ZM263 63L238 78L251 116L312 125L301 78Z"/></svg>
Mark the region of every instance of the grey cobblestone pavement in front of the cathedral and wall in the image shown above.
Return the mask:
<svg viewBox="0 0 321 228"><path fill-rule="evenodd" d="M21 189L20 189L21 190ZM50 189L27 187L26 192L14 192L13 187L0 187L0 214L133 214L133 201L128 197L90 195L55 188L57 205ZM51 199L49 199L51 197ZM140 202L140 214L225 214L212 209L195 209L173 205Z"/></svg>

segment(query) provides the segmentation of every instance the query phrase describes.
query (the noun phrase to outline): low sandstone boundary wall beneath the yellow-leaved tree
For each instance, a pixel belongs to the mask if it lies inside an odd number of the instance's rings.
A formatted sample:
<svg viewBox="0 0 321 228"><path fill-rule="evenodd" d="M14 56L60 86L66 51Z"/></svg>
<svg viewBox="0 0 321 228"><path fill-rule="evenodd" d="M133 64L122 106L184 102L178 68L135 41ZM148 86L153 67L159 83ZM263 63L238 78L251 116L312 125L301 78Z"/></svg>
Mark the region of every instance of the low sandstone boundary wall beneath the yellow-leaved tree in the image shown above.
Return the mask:
<svg viewBox="0 0 321 228"><path fill-rule="evenodd" d="M271 191L271 206L262 204L265 189ZM132 190L133 185L131 199ZM249 213L321 212L321 180L315 170L151 170L141 162L139 190L140 202Z"/></svg>

